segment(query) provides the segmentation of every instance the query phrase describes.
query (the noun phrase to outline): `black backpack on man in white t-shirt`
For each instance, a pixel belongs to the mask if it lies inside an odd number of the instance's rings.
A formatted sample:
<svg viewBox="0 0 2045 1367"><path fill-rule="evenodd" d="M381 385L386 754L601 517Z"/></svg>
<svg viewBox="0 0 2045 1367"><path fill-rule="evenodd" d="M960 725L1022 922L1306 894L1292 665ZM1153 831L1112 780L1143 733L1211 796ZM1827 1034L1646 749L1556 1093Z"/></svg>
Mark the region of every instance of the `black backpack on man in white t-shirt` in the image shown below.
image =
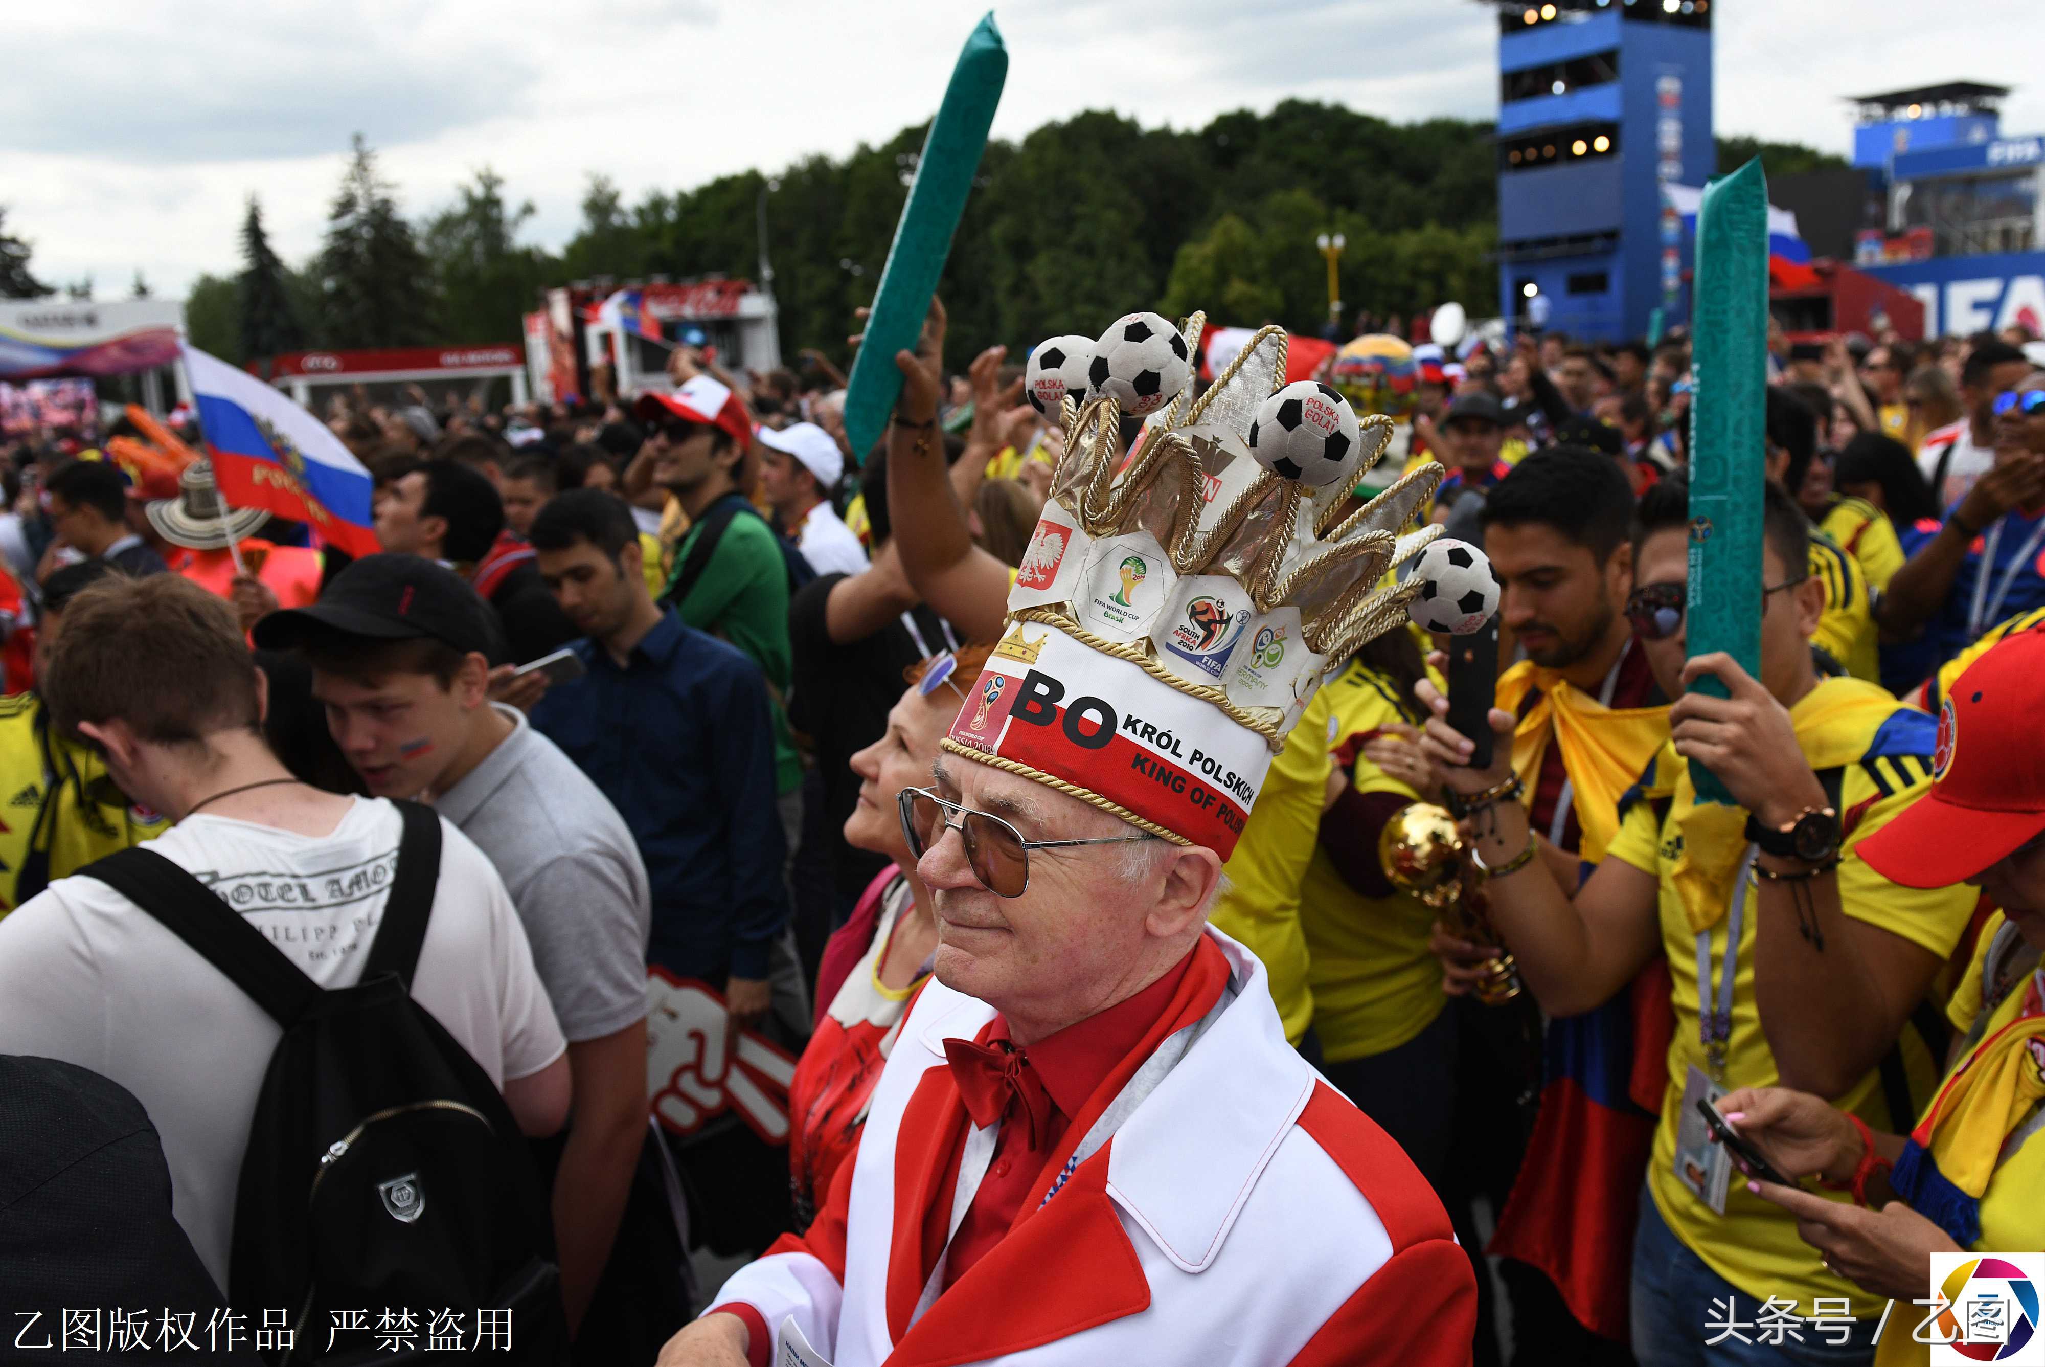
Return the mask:
<svg viewBox="0 0 2045 1367"><path fill-rule="evenodd" d="M526 1140L483 1066L411 999L440 817L395 806L405 839L391 896L348 988L317 986L151 849L80 874L162 921L284 1027L241 1160L227 1287L235 1306L288 1308L294 1342L272 1361L409 1359L446 1312L438 1351L448 1332L468 1351L479 1336L499 1349L505 1332L505 1361L560 1363L560 1269ZM393 1322L413 1332L393 1338Z"/></svg>

